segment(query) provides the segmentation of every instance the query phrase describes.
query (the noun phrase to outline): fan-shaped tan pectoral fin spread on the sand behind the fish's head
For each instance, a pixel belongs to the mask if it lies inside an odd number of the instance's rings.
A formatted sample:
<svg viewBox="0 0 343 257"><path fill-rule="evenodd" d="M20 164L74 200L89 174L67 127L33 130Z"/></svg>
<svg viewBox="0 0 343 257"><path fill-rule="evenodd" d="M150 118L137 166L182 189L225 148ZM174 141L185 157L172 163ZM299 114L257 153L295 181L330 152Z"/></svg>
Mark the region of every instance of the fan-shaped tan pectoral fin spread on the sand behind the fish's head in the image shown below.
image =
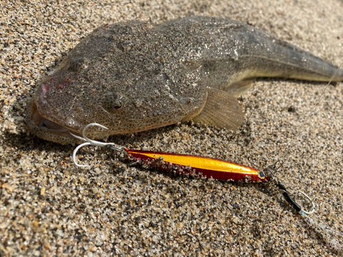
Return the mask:
<svg viewBox="0 0 343 257"><path fill-rule="evenodd" d="M244 113L233 94L209 87L207 93L205 106L193 121L237 130L244 121Z"/></svg>

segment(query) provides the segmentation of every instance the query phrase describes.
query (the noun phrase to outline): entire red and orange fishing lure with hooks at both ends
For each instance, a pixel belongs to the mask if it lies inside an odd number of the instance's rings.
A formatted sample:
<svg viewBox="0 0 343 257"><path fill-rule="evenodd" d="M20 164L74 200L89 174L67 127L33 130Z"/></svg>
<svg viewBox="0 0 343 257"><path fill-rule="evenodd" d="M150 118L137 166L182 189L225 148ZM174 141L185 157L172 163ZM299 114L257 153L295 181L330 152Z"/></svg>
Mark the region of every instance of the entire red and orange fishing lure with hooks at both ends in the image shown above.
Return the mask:
<svg viewBox="0 0 343 257"><path fill-rule="evenodd" d="M76 153L81 147L87 145L93 145L97 147L108 147L115 151L124 151L132 160L139 162L140 164L147 164L148 167L160 169L162 171L175 171L178 174L200 176L203 178L212 178L215 180L233 180L239 181L244 180L247 182L270 182L276 183L276 186L283 191L285 200L292 205L292 207L299 213L300 217L309 225L310 228L314 229L323 240L327 242L330 247L333 247L336 251L342 251L343 246L336 238L343 238L343 233L331 228L327 228L314 219L311 219L307 215L311 215L315 210L314 201L311 200L302 191L299 193L303 194L311 203L311 210L306 211L301 208L296 201L289 194L285 186L276 179L274 175L275 171L280 167L276 168L276 164L270 167L266 167L263 170L247 167L245 165L237 164L234 162L227 162L225 160L207 158L203 156L193 156L188 154L171 154L163 153L160 151L143 151L136 149L128 149L126 147L117 147L114 143L102 143L96 140L91 140L86 136L86 130L88 127L101 127L107 129L105 126L90 123L82 130L82 137L76 136L69 132L75 138L84 141L84 143L78 145L73 151L73 162L78 167L90 167L88 165L78 164L76 161ZM268 173L268 175L267 175Z"/></svg>

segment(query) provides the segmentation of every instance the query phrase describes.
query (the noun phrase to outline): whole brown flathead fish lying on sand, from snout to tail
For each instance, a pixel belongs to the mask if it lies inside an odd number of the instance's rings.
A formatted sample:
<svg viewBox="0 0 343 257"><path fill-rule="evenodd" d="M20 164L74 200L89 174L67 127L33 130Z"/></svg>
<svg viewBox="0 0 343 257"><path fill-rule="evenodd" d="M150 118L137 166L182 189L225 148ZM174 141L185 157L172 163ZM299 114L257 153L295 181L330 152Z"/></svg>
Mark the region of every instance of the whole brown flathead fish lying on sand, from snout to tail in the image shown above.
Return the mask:
<svg viewBox="0 0 343 257"><path fill-rule="evenodd" d="M250 25L193 16L158 25L102 25L38 85L25 123L45 140L73 144L178 122L237 130L237 97L256 77L343 80L343 70ZM333 74L335 73L335 76ZM69 133L70 132L70 133Z"/></svg>

